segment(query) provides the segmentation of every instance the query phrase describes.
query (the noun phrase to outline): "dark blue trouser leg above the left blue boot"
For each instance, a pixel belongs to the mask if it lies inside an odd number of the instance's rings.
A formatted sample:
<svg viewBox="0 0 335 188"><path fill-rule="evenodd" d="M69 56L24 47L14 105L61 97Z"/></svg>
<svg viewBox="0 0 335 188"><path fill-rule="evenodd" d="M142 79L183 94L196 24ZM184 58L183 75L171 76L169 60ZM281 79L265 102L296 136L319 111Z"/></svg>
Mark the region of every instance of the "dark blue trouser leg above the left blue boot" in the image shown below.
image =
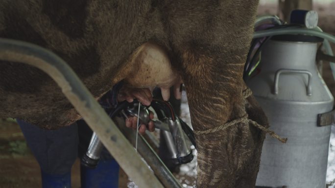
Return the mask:
<svg viewBox="0 0 335 188"><path fill-rule="evenodd" d="M78 156L76 123L57 130L45 130L21 120L17 122L42 171L54 175L71 171Z"/></svg>

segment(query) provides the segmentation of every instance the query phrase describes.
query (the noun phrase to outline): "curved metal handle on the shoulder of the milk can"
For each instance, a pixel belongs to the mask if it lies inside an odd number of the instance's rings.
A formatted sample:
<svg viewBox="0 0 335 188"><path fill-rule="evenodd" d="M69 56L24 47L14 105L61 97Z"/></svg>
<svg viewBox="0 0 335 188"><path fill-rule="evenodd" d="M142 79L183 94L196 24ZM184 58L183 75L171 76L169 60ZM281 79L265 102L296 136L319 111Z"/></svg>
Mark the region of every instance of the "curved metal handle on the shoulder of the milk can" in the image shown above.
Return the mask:
<svg viewBox="0 0 335 188"><path fill-rule="evenodd" d="M278 83L279 83L279 76L282 73L297 73L297 74L307 74L308 75L308 84L307 84L307 88L306 88L306 92L308 96L311 96L311 77L312 74L310 71L308 70L296 70L296 69L278 69L276 71L275 74L275 80L274 80L274 94L277 95L278 94Z"/></svg>

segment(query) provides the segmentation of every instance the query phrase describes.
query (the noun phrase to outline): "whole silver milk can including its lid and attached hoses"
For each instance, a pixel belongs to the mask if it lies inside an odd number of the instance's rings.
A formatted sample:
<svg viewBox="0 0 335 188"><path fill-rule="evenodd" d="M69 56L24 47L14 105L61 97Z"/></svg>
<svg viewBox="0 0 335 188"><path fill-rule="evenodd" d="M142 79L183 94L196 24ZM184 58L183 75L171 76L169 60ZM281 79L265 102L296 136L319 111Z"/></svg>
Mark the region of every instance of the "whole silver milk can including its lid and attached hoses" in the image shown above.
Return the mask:
<svg viewBox="0 0 335 188"><path fill-rule="evenodd" d="M289 24L274 16L256 21L243 78L270 128L288 139L265 139L257 188L325 188L334 98L315 62L335 59L335 38L317 21L315 11L303 10L292 11Z"/></svg>

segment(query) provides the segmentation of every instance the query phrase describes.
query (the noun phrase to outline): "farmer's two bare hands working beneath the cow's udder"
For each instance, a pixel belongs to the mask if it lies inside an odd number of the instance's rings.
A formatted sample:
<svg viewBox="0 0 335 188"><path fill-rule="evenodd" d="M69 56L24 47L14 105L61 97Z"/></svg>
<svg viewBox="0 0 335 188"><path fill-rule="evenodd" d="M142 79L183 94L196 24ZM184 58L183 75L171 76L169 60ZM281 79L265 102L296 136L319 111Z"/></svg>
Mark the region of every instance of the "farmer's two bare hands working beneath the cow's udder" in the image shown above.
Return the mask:
<svg viewBox="0 0 335 188"><path fill-rule="evenodd" d="M127 101L129 103L134 101L134 98L136 98L139 102L141 102L144 105L150 105L152 101L152 93L149 88L132 88L127 86L122 86L120 88L119 94L118 94L118 101ZM150 119L153 119L154 115L152 112L149 114ZM137 128L137 117L129 117L126 119L126 126L129 128L136 129ZM155 125L152 121L148 123L148 126L146 127L144 124L140 125L139 132L140 134L144 134L146 128L150 132L153 132L155 130Z"/></svg>

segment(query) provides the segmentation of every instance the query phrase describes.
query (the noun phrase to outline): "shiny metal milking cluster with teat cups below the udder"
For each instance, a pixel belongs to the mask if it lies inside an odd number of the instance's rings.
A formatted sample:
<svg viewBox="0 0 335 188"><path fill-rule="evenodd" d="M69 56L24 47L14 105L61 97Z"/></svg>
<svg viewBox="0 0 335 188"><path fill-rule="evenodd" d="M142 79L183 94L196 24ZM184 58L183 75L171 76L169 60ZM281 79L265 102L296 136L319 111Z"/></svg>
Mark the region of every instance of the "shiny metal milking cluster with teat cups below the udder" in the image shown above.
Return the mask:
<svg viewBox="0 0 335 188"><path fill-rule="evenodd" d="M153 99L150 106L155 110L158 120L150 120L149 106L140 105L134 100L133 103L122 102L118 106L107 111L111 118L123 116L124 118L138 117L141 124L147 125L153 121L156 128L163 132L163 137L169 150L169 160L175 164L186 164L191 162L193 154L191 146L195 145L194 133L191 128L178 116L176 116L171 104L166 101ZM103 148L99 138L94 133L86 154L82 157L81 164L86 167L96 167L99 162L101 150Z"/></svg>

